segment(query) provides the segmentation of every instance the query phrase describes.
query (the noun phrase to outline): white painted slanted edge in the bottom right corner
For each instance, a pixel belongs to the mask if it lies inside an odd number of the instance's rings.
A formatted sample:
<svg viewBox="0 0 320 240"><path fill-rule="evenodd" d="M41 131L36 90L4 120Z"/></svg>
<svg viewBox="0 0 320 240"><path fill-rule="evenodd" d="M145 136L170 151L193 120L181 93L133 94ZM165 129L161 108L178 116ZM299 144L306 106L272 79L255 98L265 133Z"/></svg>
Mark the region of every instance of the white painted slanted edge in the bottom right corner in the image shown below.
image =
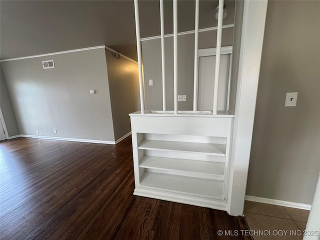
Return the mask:
<svg viewBox="0 0 320 240"><path fill-rule="evenodd" d="M306 234L303 236L303 240L320 239L320 174L316 183L312 206L304 233Z"/></svg>

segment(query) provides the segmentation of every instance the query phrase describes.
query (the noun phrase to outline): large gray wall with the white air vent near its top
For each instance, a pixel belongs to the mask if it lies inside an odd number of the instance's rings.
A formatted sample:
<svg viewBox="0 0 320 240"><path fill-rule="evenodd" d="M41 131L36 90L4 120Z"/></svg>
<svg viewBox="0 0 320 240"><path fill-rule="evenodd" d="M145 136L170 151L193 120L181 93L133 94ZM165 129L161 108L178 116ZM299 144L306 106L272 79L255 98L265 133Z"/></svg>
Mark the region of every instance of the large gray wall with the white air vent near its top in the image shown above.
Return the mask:
<svg viewBox="0 0 320 240"><path fill-rule="evenodd" d="M114 141L104 48L1 65L20 134Z"/></svg>

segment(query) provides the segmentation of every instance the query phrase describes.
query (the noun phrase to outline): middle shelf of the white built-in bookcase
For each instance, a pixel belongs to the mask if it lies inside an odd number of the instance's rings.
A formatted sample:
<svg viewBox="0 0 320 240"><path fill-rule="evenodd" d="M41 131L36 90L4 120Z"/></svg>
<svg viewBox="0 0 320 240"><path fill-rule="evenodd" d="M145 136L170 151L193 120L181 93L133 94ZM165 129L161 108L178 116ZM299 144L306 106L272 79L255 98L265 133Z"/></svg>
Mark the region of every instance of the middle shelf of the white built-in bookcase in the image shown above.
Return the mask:
<svg viewBox="0 0 320 240"><path fill-rule="evenodd" d="M223 180L224 164L158 156L143 156L140 167L168 170L171 174Z"/></svg>

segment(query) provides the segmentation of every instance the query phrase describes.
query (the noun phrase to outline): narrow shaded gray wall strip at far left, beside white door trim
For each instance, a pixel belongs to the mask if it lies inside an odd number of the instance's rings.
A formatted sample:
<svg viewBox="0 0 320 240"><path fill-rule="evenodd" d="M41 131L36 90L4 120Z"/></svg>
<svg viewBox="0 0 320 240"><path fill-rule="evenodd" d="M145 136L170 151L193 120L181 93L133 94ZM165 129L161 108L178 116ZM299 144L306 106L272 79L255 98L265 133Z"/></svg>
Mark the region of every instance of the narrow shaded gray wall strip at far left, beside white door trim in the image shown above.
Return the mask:
<svg viewBox="0 0 320 240"><path fill-rule="evenodd" d="M2 67L0 65L1 77L0 77L0 106L3 114L5 126L7 128L9 136L20 134L18 124L15 119L10 95L6 86Z"/></svg>

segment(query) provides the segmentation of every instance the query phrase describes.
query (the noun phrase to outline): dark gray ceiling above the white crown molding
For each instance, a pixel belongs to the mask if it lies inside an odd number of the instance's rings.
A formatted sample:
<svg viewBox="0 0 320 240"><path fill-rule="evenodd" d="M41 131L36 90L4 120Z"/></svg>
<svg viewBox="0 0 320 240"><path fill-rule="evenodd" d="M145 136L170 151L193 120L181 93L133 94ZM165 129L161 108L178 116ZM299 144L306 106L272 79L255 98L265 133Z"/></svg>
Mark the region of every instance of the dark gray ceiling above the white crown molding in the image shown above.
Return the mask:
<svg viewBox="0 0 320 240"><path fill-rule="evenodd" d="M233 23L234 0L227 0ZM217 0L200 0L199 27L216 25ZM140 0L141 37L160 34L159 1ZM164 1L172 33L172 0ZM194 29L194 0L178 0L178 31ZM1 0L0 59L107 45L136 59L133 0Z"/></svg>

